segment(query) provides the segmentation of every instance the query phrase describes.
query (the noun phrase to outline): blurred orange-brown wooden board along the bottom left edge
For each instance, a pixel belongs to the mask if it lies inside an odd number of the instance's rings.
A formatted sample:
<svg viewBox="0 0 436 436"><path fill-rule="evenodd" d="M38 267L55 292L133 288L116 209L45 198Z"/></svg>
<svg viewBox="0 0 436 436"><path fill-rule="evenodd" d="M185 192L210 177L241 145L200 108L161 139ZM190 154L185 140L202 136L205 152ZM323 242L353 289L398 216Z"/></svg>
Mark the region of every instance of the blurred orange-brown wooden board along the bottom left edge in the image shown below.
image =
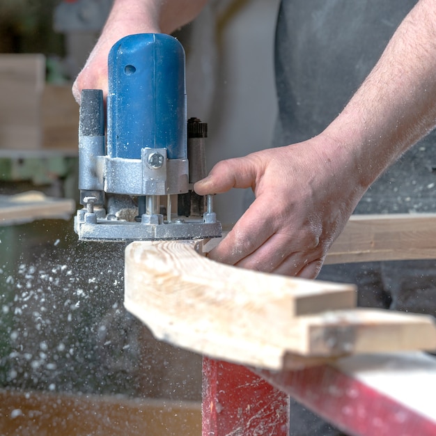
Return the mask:
<svg viewBox="0 0 436 436"><path fill-rule="evenodd" d="M183 436L201 432L191 401L0 389L0 434Z"/></svg>

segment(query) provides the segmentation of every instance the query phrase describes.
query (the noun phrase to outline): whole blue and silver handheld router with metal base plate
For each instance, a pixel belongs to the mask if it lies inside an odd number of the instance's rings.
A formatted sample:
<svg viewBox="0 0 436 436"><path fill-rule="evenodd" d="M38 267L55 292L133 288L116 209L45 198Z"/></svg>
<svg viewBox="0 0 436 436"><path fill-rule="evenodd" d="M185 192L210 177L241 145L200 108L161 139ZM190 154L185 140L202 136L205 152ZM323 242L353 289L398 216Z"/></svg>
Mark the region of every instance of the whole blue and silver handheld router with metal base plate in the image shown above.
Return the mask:
<svg viewBox="0 0 436 436"><path fill-rule="evenodd" d="M206 176L207 125L187 120L180 42L159 33L119 40L109 53L108 79L107 141L102 91L81 93L79 239L220 237L212 196L193 190Z"/></svg>

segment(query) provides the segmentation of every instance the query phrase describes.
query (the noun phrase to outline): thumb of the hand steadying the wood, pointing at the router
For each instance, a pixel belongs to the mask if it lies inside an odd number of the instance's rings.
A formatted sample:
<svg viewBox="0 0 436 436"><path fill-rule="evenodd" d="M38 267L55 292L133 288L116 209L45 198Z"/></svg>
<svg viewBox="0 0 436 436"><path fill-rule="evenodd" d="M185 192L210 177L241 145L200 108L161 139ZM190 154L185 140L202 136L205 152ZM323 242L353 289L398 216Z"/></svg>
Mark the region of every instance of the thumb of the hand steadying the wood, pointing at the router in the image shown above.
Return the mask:
<svg viewBox="0 0 436 436"><path fill-rule="evenodd" d="M209 176L194 184L198 195L222 194L231 188L254 187L258 166L250 155L218 162Z"/></svg>

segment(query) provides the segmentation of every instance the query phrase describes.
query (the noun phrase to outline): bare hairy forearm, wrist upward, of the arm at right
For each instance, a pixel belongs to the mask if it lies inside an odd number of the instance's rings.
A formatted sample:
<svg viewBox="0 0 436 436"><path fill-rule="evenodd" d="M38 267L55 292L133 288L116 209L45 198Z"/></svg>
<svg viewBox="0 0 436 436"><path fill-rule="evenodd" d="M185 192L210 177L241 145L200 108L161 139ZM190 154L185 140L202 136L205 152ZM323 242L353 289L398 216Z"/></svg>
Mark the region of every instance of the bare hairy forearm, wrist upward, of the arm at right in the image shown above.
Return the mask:
<svg viewBox="0 0 436 436"><path fill-rule="evenodd" d="M355 155L368 187L435 125L436 8L433 0L421 0L324 134L336 143L334 153Z"/></svg>

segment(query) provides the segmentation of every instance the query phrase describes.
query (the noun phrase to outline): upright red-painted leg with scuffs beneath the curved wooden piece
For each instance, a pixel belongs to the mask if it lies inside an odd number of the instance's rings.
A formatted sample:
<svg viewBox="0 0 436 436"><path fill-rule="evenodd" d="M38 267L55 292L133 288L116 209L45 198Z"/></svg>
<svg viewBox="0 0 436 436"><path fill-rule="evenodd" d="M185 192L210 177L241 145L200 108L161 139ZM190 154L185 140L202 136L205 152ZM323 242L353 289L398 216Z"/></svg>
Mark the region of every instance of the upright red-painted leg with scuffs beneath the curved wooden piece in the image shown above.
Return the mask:
<svg viewBox="0 0 436 436"><path fill-rule="evenodd" d="M202 436L289 435L289 396L244 366L203 357Z"/></svg>

